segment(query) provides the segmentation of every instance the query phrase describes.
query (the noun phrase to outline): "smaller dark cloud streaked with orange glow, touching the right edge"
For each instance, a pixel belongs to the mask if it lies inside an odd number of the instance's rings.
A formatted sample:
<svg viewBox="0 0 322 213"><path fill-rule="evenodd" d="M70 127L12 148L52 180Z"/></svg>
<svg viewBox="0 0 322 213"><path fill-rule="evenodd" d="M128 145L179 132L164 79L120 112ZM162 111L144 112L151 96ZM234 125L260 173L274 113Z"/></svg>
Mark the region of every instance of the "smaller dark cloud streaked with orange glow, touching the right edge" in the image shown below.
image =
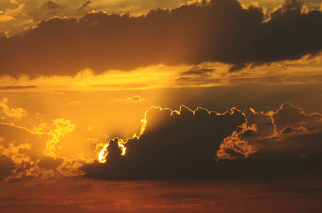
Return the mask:
<svg viewBox="0 0 322 213"><path fill-rule="evenodd" d="M303 109L285 103L269 116L256 113L248 118L249 124L255 124L257 131L252 131L252 135L245 134L249 130L241 132L236 141L246 139L256 146L258 151L251 153L254 158L281 162L306 158L309 162L322 157L322 114L306 114ZM268 118L272 122L266 125ZM232 148L228 149L234 151ZM316 165L314 160L312 165Z"/></svg>

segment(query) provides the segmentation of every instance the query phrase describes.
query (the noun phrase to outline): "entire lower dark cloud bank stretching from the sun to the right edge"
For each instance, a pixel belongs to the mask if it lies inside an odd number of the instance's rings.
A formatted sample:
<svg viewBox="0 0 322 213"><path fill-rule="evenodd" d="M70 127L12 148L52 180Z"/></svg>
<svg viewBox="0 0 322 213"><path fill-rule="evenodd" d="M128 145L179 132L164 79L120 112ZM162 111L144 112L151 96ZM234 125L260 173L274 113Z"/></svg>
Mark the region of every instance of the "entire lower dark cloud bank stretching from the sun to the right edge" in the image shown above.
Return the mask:
<svg viewBox="0 0 322 213"><path fill-rule="evenodd" d="M86 178L109 180L321 174L321 118L322 114L306 114L289 103L272 114L248 115L237 109L221 115L204 109L193 113L182 107L181 114L170 116L169 110L149 110L145 133L129 139L125 155L118 138L111 139L107 162L85 164L81 170Z"/></svg>

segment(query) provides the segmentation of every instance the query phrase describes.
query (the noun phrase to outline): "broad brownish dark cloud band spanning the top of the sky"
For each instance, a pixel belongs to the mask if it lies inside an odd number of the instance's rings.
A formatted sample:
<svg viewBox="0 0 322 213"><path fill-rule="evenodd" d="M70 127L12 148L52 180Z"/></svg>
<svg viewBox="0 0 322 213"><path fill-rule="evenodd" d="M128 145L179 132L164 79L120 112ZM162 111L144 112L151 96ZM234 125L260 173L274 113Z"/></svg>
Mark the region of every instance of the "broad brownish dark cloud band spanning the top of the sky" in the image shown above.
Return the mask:
<svg viewBox="0 0 322 213"><path fill-rule="evenodd" d="M51 18L0 38L0 74L75 75L85 67L99 73L205 61L232 64L234 71L251 62L320 53L321 11L286 0L269 17L264 21L264 9L256 4L244 9L236 0L213 0L137 17L95 11L79 20Z"/></svg>

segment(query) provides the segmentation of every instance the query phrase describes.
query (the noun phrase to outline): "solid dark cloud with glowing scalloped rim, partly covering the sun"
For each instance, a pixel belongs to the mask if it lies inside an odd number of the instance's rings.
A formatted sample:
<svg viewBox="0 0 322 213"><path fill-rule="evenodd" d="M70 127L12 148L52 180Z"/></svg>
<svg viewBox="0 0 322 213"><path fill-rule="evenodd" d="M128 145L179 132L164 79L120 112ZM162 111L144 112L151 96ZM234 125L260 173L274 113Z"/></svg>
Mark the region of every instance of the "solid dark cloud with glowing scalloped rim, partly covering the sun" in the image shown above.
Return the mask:
<svg viewBox="0 0 322 213"><path fill-rule="evenodd" d="M237 109L224 114L205 109L180 114L169 109L147 112L145 133L126 143L126 154L118 139L110 140L105 164L83 165L85 177L107 179L185 179L212 177L221 141L246 121Z"/></svg>

